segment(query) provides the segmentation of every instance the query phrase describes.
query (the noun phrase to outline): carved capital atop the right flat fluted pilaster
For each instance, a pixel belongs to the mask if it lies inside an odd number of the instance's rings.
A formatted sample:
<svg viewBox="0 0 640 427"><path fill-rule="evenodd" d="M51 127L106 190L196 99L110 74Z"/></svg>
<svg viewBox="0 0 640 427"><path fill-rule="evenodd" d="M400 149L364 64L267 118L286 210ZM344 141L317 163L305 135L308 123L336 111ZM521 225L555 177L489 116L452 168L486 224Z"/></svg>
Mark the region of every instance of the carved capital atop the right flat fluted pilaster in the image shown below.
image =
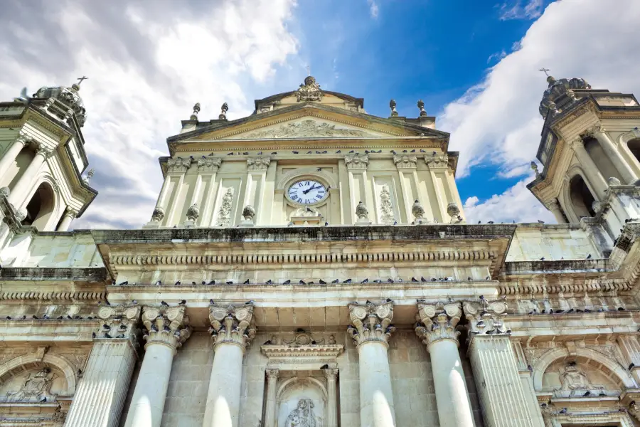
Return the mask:
<svg viewBox="0 0 640 427"><path fill-rule="evenodd" d="M478 334L511 334L511 330L504 325L507 305L503 300L489 302L481 298L480 302L464 302L463 308L465 317L469 320L469 339Z"/></svg>

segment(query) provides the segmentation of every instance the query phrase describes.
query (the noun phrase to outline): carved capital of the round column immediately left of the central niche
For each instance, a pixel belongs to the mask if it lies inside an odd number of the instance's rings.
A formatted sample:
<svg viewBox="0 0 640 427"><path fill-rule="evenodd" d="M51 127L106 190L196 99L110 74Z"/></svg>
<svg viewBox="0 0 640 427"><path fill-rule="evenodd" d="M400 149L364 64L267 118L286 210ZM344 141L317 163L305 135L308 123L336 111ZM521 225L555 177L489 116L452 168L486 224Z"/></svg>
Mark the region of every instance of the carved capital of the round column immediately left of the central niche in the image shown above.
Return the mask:
<svg viewBox="0 0 640 427"><path fill-rule="evenodd" d="M252 304L210 305L209 321L209 333L213 338L214 349L225 342L246 349L255 337Z"/></svg>

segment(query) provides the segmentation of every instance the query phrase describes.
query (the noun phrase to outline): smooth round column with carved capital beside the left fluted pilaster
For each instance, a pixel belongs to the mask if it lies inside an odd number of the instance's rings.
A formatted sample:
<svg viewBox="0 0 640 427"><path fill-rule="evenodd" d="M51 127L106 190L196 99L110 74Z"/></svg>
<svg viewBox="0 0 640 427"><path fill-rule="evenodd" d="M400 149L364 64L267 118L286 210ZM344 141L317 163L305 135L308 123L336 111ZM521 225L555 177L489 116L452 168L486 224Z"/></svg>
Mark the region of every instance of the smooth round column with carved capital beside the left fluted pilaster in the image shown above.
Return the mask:
<svg viewBox="0 0 640 427"><path fill-rule="evenodd" d="M124 427L159 427L162 421L171 363L183 342L191 335L185 307L144 307L146 327L144 359L138 375Z"/></svg>

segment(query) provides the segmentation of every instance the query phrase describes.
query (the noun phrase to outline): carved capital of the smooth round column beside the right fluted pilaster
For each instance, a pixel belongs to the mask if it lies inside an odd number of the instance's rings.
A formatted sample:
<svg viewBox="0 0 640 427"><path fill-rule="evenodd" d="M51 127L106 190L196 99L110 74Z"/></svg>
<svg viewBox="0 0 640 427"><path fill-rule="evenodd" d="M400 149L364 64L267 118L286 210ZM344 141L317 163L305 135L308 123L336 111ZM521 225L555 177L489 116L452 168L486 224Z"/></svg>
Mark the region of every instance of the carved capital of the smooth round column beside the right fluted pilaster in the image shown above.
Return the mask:
<svg viewBox="0 0 640 427"><path fill-rule="evenodd" d="M447 304L418 302L417 307L417 317L420 317L420 320L415 325L415 333L423 343L427 344L427 349L439 339L452 339L459 345L460 332L456 330L462 317L462 307L459 302Z"/></svg>

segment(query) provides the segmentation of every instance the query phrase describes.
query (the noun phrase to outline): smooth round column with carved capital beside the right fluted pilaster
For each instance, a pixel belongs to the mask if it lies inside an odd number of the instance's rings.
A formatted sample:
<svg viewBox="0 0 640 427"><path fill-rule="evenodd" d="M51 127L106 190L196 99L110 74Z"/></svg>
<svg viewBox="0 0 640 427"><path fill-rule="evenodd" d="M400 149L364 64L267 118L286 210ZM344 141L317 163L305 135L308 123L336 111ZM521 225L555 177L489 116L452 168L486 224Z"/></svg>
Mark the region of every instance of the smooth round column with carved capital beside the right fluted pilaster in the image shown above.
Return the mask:
<svg viewBox="0 0 640 427"><path fill-rule="evenodd" d="M415 332L431 354L433 384L441 427L474 427L473 410L466 390L458 352L456 325L462 316L459 302L418 302L420 322Z"/></svg>

